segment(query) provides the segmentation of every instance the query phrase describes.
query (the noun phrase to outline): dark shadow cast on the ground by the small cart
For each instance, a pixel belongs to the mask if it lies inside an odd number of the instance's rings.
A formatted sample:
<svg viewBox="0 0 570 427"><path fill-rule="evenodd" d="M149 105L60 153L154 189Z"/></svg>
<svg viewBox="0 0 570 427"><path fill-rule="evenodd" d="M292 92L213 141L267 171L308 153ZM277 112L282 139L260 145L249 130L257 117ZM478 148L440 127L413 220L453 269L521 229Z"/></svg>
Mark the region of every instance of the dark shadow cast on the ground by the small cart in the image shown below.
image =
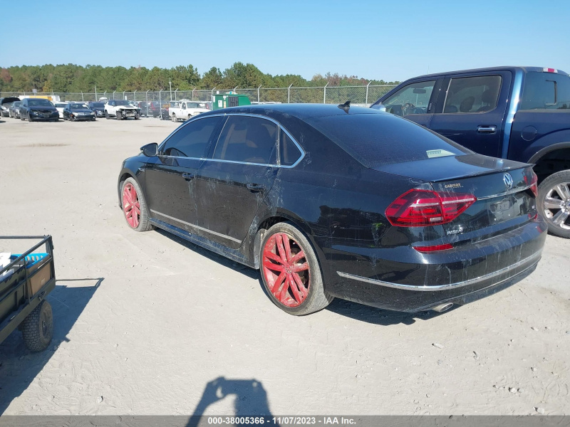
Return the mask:
<svg viewBox="0 0 570 427"><path fill-rule="evenodd" d="M46 297L53 310L53 338L43 352L30 352L19 330L0 344L0 414L28 388L59 344L69 341L71 327L101 282L103 278L56 280L56 288Z"/></svg>

